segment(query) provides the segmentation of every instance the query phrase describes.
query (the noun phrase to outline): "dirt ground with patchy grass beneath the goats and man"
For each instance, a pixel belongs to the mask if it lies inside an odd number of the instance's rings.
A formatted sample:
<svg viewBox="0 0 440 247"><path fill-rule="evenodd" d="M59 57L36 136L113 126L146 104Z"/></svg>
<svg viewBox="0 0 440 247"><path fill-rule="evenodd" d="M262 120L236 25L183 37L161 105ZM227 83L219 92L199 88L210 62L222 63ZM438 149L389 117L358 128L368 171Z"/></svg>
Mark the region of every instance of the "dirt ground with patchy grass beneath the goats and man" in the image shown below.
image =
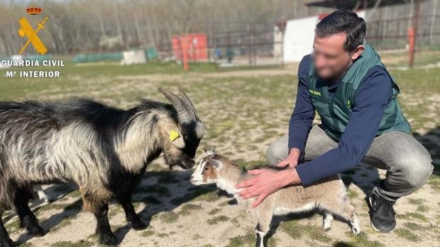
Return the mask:
<svg viewBox="0 0 440 247"><path fill-rule="evenodd" d="M424 88L402 71L400 102L413 125L413 133L440 163L440 86ZM419 72L417 72L419 73ZM421 72L426 73L426 72ZM439 81L440 69L429 71ZM428 73L428 74L429 74ZM424 75L426 76L426 75ZM414 75L414 78L420 76ZM141 74L85 77L67 74L68 86L48 84L17 100L63 100L72 96L94 98L120 108L138 103L138 98L165 100L157 88L187 89L199 117L207 126L202 148L216 147L219 154L247 168L263 164L265 149L287 133L295 104L295 69L231 71L224 73ZM421 79L422 80L422 79ZM415 89L417 88L417 90ZM422 88L422 89L421 89ZM406 91L405 91L406 90ZM198 152L199 154L200 152ZM397 228L379 234L370 227L365 197L385 171L360 163L343 173L351 204L360 217L363 232L354 236L347 224L335 221L330 231L321 229L320 214L290 215L273 222L269 246L440 246L440 174L427 185L401 198L395 205ZM255 223L233 197L214 186L189 183L191 171L169 171L160 158L148 166L136 189L133 203L144 231L126 223L123 209L110 205L109 219L119 246L253 246ZM75 185L46 185L55 202L32 202L32 209L48 233L40 238L19 228L15 212L4 215L11 239L21 246L99 246L92 214L82 212Z"/></svg>

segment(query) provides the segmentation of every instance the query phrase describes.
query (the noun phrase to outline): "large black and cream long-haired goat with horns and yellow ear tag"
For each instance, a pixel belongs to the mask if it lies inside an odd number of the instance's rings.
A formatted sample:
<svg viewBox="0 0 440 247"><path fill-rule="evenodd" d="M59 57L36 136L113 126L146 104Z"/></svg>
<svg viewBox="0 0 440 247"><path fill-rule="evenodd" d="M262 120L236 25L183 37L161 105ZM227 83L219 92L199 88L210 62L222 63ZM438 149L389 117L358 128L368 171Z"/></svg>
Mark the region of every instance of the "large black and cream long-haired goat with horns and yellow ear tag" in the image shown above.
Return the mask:
<svg viewBox="0 0 440 247"><path fill-rule="evenodd" d="M119 110L84 99L0 103L0 246L13 245L1 221L12 207L31 234L44 234L28 207L33 185L42 183L79 185L101 243L116 244L107 218L114 197L133 229L144 229L131 195L147 164L163 153L168 165L192 168L204 135L187 94L160 91L172 104L143 100Z"/></svg>

